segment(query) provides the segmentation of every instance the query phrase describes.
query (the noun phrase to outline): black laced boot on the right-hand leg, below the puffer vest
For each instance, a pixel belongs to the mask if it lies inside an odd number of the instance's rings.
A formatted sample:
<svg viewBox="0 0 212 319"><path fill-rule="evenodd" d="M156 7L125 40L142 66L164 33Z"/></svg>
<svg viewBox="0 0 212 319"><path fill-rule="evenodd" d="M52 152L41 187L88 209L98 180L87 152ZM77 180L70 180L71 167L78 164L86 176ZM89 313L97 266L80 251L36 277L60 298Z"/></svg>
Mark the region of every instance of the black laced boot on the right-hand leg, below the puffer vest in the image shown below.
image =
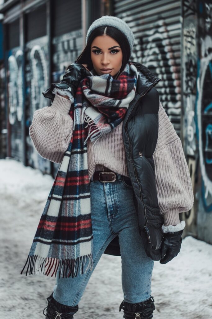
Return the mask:
<svg viewBox="0 0 212 319"><path fill-rule="evenodd" d="M151 319L155 309L154 298L150 296L149 299L138 303L129 303L123 300L120 304L119 311L121 311L121 309L124 310L123 318L125 319Z"/></svg>

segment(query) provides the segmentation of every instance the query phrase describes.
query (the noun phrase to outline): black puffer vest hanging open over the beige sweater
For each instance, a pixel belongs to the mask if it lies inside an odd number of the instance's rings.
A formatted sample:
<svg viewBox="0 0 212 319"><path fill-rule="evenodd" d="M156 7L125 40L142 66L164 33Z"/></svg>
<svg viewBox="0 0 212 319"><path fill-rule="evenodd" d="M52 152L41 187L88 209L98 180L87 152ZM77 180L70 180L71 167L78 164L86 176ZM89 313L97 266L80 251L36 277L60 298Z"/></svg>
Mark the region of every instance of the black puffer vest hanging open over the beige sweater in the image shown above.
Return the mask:
<svg viewBox="0 0 212 319"><path fill-rule="evenodd" d="M133 64L140 72L135 97L123 121L122 134L140 236L147 256L160 260L164 219L158 206L152 159L158 138L159 110L159 93L154 86L160 79L144 65ZM104 254L120 256L118 235Z"/></svg>

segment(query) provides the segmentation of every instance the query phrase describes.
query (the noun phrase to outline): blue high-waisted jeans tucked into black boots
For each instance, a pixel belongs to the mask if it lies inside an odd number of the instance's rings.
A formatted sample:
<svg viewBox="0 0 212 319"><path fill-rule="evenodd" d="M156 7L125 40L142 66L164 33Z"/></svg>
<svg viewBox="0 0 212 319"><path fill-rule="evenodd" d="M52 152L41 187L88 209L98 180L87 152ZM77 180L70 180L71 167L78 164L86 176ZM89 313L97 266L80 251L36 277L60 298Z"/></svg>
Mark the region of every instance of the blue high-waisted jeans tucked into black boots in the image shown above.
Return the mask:
<svg viewBox="0 0 212 319"><path fill-rule="evenodd" d="M132 186L124 184L122 176L117 175L115 182L91 179L93 269L74 278L58 278L56 275L53 297L64 305L76 306L79 303L101 255L117 235L124 300L137 303L150 298L154 261L147 256L139 234Z"/></svg>

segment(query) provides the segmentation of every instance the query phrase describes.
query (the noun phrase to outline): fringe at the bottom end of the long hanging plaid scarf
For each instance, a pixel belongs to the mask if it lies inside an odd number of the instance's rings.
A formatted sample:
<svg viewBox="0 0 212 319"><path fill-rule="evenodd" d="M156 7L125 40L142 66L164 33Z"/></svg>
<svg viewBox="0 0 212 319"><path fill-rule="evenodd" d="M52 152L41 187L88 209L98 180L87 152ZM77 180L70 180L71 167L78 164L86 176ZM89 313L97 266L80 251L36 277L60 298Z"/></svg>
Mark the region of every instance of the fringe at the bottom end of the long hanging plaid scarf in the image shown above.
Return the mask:
<svg viewBox="0 0 212 319"><path fill-rule="evenodd" d="M85 263L88 262L87 268L85 269ZM46 276L54 275L56 277L57 272L59 273L59 278L72 278L77 276L79 273L82 275L93 269L93 259L92 254L80 256L76 259L58 259L50 257L40 257L38 255L28 255L27 261L24 265L24 268L27 266L25 275L29 271L29 275L36 275L43 273ZM24 271L24 268L21 271L21 275ZM68 271L68 273L67 273Z"/></svg>

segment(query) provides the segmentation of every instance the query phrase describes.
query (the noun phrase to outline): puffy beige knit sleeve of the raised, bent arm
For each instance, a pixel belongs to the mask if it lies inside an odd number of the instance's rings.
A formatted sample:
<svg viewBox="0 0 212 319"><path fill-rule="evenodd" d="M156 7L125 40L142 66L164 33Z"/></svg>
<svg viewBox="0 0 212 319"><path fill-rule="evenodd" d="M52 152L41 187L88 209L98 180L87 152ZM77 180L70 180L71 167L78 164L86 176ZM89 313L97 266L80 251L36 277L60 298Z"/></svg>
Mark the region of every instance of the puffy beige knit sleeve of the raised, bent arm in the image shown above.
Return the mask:
<svg viewBox="0 0 212 319"><path fill-rule="evenodd" d="M72 137L73 120L68 114L71 104L70 100L56 94L51 107L34 112L29 128L38 153L55 163L62 161Z"/></svg>

